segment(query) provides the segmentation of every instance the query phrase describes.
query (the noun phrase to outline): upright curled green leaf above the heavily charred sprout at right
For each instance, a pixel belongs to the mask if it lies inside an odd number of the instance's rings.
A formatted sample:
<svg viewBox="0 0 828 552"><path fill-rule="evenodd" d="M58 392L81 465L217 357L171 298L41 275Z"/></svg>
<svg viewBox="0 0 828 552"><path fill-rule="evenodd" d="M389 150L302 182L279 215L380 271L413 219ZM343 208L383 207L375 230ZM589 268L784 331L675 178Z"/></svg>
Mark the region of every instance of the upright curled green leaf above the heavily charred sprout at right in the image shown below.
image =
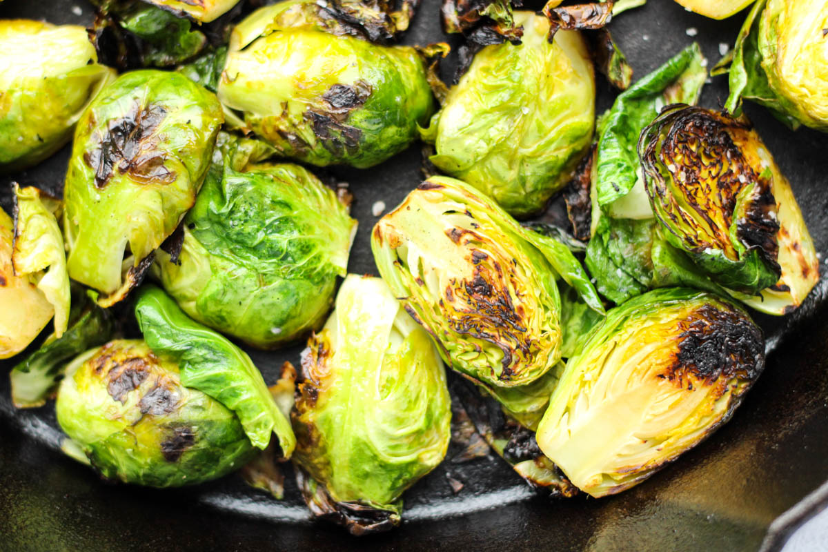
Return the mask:
<svg viewBox="0 0 828 552"><path fill-rule="evenodd" d="M707 70L694 42L619 94L601 122L595 160L597 202L604 208L628 194L638 180L638 135L664 105L696 103Z"/></svg>

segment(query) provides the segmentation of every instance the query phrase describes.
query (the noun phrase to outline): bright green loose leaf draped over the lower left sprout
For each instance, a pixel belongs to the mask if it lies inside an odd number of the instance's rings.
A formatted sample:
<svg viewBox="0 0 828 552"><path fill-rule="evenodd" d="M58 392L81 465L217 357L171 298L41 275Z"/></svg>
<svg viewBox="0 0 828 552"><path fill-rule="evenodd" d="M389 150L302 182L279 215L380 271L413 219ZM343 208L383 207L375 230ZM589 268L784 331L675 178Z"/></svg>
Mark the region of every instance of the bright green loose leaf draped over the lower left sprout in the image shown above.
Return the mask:
<svg viewBox="0 0 828 552"><path fill-rule="evenodd" d="M139 290L135 317L150 348L178 362L182 384L233 410L258 449L265 449L275 432L282 454L290 458L296 446L290 422L277 408L247 353L187 318L170 296L155 286Z"/></svg>

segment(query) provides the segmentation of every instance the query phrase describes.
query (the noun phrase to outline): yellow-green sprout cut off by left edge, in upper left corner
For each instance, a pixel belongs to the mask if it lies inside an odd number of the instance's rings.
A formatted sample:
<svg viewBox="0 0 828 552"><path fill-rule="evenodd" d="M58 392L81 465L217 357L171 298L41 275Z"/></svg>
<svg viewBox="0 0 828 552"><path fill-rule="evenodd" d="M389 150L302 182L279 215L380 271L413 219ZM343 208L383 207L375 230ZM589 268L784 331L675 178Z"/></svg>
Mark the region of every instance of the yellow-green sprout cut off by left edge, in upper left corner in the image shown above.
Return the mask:
<svg viewBox="0 0 828 552"><path fill-rule="evenodd" d="M0 171L34 166L69 142L115 76L97 61L81 26L0 20Z"/></svg>

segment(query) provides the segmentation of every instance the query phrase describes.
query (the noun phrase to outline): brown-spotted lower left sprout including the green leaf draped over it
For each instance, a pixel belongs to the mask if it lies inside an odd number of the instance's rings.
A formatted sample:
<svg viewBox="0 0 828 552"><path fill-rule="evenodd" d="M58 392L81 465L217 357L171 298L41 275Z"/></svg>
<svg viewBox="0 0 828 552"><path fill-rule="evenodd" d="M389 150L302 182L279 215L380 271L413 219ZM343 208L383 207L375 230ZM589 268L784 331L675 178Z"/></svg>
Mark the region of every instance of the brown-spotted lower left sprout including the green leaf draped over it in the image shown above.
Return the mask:
<svg viewBox="0 0 828 552"><path fill-rule="evenodd" d="M135 315L144 340L115 340L75 358L57 420L105 478L177 487L241 468L272 433L289 457L296 439L241 349L145 286Z"/></svg>

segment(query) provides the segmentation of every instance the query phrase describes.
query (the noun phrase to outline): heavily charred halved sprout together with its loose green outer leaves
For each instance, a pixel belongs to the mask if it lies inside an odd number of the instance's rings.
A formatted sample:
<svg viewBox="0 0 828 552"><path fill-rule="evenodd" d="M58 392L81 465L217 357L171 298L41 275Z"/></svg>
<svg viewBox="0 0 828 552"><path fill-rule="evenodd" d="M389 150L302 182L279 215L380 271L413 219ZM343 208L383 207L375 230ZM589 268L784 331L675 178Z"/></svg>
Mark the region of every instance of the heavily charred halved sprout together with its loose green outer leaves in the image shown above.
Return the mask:
<svg viewBox="0 0 828 552"><path fill-rule="evenodd" d="M816 285L819 262L767 147L744 118L700 108L672 106L652 121L662 104L698 96L704 70L688 61L693 50L621 94L607 116L586 266L616 303L653 287L692 286L785 314ZM639 161L628 148L651 121Z"/></svg>

